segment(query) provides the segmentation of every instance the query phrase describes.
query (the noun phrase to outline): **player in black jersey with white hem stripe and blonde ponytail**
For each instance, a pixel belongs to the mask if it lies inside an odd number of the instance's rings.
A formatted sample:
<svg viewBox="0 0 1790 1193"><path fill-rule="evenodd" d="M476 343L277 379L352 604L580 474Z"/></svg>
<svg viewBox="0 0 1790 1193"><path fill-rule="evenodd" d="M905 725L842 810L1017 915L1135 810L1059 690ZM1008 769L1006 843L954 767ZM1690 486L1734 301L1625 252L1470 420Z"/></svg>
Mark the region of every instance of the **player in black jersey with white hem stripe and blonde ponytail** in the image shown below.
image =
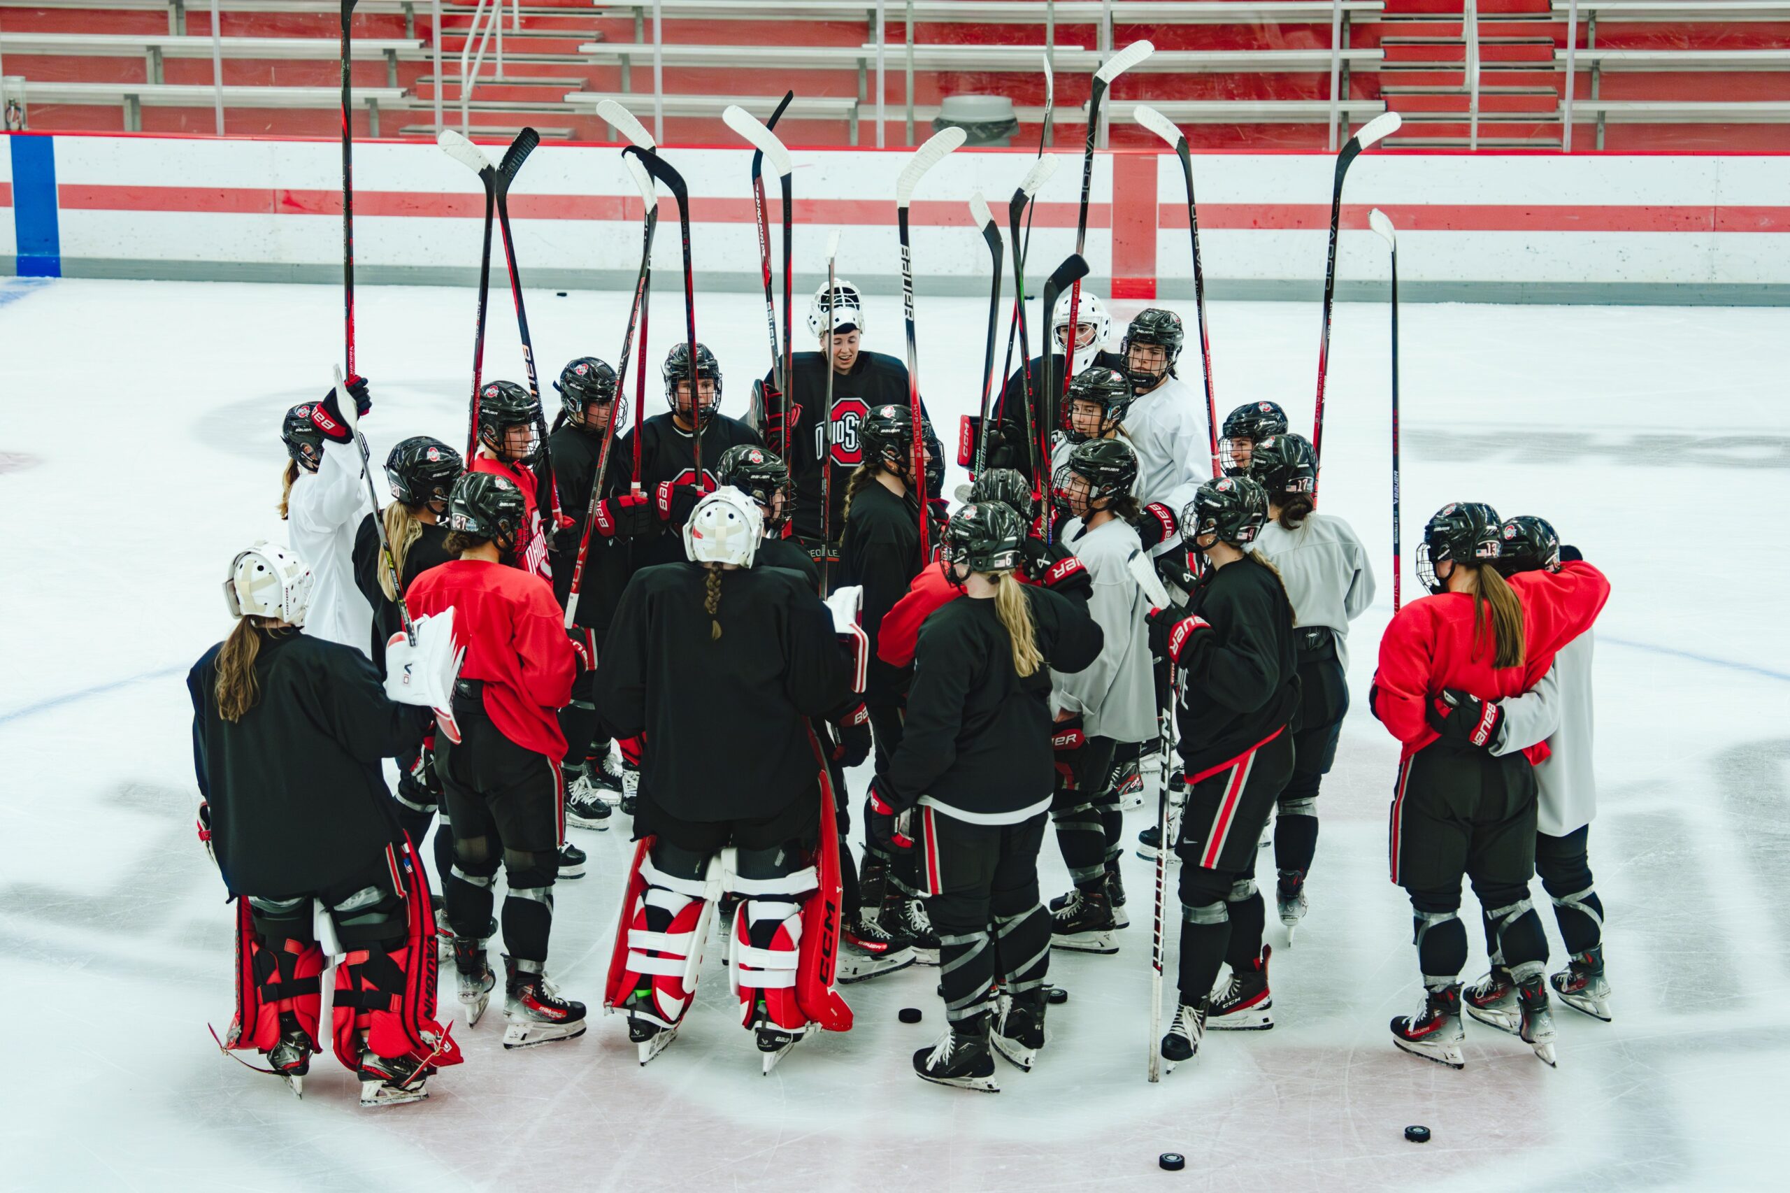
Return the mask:
<svg viewBox="0 0 1790 1193"><path fill-rule="evenodd" d="M1078 672L1101 650L1099 625L1081 602L1013 579L1024 537L1019 514L1001 503L965 505L945 527L945 566L963 598L920 627L908 727L872 779L865 810L884 847L906 840L897 817L916 810L947 1028L934 1048L913 1055L915 1073L984 1091L999 1089L990 1044L1029 1069L1045 1043L1051 924L1038 905L1053 774L1045 668Z"/></svg>

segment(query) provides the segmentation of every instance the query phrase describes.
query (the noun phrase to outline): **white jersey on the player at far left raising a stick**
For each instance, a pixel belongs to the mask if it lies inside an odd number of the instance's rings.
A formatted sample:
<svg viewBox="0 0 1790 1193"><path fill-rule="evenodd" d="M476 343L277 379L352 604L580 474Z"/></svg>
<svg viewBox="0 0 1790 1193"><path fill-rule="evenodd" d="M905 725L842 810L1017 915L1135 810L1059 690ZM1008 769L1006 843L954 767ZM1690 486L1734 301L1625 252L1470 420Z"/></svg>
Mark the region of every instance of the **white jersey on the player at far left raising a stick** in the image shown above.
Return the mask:
<svg viewBox="0 0 1790 1193"><path fill-rule="evenodd" d="M360 451L345 442L324 442L315 473L299 469L286 498L292 550L311 568L311 609L304 632L311 638L372 648L372 605L354 586L354 530L367 514L367 480Z"/></svg>

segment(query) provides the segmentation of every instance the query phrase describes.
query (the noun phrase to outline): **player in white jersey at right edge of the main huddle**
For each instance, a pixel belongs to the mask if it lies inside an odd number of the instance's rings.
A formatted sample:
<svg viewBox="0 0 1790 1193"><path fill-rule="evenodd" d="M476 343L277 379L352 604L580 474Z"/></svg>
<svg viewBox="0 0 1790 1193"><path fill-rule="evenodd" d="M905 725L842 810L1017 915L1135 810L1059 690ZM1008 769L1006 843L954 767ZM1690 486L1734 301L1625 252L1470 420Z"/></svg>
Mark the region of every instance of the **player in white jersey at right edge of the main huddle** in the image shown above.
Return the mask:
<svg viewBox="0 0 1790 1193"><path fill-rule="evenodd" d="M1316 512L1317 455L1305 435L1269 435L1257 442L1249 476L1267 491L1269 521L1255 550L1280 570L1287 586L1300 657L1292 777L1280 792L1274 817L1274 869L1280 872L1274 901L1291 944L1305 915L1305 876L1317 853L1317 785L1335 761L1348 713L1348 623L1373 604L1373 568L1346 521ZM1248 991L1233 994L1249 998Z"/></svg>

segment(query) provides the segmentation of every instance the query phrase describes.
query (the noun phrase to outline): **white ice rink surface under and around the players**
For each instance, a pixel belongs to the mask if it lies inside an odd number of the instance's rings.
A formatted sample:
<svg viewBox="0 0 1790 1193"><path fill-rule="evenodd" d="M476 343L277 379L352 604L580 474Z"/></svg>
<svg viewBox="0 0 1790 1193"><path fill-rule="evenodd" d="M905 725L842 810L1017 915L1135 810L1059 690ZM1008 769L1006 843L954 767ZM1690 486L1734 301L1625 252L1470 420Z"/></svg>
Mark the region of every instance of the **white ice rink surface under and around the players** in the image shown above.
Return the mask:
<svg viewBox="0 0 1790 1193"><path fill-rule="evenodd" d="M677 287L661 290L648 412L684 326ZM575 355L614 358L626 296L528 303L542 389ZM984 313L922 287L920 378L947 444L976 401ZM358 317L374 459L403 435L462 441L473 292L362 288ZM1221 416L1273 398L1303 430L1317 319L1316 303L1217 305ZM1144 1082L1151 871L1128 853L1121 953L1053 957L1070 1001L1033 1073L997 1069L997 1096L913 1077L942 1026L922 967L850 987L857 1028L761 1077L711 948L698 1005L652 1066L598 1014L584 1039L505 1053L494 1010L456 1026L467 1064L426 1103L385 1111L358 1109L329 1057L295 1102L213 1046L231 912L192 829L186 668L229 629L231 555L285 537L279 414L324 392L340 321L329 287L0 281L0 1188L1783 1188L1790 312L1403 310L1405 598L1412 546L1450 500L1550 518L1615 584L1591 865L1616 1017L1557 1007L1557 1071L1475 1023L1459 1073L1387 1035L1419 1000L1385 878L1396 749L1366 715L1391 614L1387 331L1384 305L1342 305L1323 509L1369 545L1380 596L1353 629L1355 711L1321 799L1310 915L1292 948L1267 930L1273 1032L1214 1034L1196 1066ZM739 414L768 356L763 305L702 297L698 322ZM868 322L868 348L902 353L899 299L872 299ZM487 378L521 380L512 328L498 292ZM1198 387L1198 353L1183 360ZM1149 817L1129 813L1128 837ZM560 883L550 960L592 1008L628 851L616 820L575 831L591 867ZM1065 888L1047 840L1045 896ZM1536 899L1557 966L1539 883ZM1468 980L1484 969L1470 935ZM900 1025L902 1007L925 1021ZM1434 1141L1405 1143L1407 1123ZM1171 1150L1185 1172L1158 1170Z"/></svg>

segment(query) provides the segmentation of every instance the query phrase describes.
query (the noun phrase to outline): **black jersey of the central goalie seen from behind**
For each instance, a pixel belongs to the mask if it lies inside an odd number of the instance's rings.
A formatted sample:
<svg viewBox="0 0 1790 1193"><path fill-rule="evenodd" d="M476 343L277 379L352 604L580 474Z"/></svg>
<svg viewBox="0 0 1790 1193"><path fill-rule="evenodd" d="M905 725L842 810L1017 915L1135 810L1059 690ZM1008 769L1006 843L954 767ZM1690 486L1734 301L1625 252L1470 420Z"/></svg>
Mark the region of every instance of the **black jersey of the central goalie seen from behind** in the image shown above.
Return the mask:
<svg viewBox="0 0 1790 1193"><path fill-rule="evenodd" d="M832 713L850 690L847 652L813 586L782 568L720 577L711 614L705 568L637 571L596 672L603 727L646 733L641 801L680 820L788 808L820 772L807 718Z"/></svg>

